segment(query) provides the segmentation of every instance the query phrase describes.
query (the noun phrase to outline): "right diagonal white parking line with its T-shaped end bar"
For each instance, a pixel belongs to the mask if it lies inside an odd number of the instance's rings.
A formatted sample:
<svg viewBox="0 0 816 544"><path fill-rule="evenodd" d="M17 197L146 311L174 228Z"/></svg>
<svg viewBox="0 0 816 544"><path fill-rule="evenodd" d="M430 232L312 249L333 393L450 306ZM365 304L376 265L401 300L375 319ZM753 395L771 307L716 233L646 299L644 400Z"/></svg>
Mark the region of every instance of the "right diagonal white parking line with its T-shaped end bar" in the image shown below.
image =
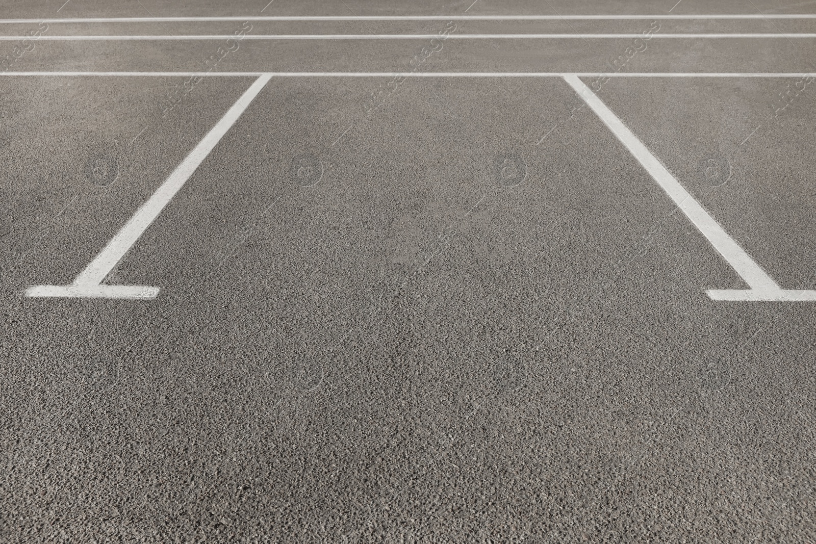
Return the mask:
<svg viewBox="0 0 816 544"><path fill-rule="evenodd" d="M685 216L703 233L731 268L734 268L734 271L751 287L750 290L709 290L707 291L709 297L714 300L734 301L816 301L816 291L783 290L779 287L579 77L567 75L564 79L592 111L601 117L601 121L628 148L632 156L672 198L677 207L683 210Z"/></svg>

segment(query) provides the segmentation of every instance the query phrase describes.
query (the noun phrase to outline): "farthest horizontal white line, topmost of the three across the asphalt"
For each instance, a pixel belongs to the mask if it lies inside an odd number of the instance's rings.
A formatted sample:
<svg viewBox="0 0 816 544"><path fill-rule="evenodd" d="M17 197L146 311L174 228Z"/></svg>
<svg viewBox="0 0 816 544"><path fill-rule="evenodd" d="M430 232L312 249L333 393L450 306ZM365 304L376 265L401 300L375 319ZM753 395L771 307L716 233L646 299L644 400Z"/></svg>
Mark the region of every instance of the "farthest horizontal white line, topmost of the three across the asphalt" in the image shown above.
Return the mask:
<svg viewBox="0 0 816 544"><path fill-rule="evenodd" d="M2 19L0 24L46 23L171 23L206 21L293 21L293 20L730 20L730 19L816 19L813 13L737 13L704 15L249 15L224 17L85 17L76 19Z"/></svg>

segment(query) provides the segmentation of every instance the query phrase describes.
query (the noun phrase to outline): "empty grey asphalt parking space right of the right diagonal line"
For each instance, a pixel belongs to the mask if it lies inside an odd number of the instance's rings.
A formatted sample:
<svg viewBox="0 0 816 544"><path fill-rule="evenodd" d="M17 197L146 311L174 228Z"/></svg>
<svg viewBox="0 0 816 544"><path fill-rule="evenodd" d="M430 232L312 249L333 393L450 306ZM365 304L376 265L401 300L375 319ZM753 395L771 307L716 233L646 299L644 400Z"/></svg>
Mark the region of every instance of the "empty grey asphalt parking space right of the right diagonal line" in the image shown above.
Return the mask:
<svg viewBox="0 0 816 544"><path fill-rule="evenodd" d="M814 285L807 77L615 80L605 100L789 289ZM636 91L638 89L639 91Z"/></svg>

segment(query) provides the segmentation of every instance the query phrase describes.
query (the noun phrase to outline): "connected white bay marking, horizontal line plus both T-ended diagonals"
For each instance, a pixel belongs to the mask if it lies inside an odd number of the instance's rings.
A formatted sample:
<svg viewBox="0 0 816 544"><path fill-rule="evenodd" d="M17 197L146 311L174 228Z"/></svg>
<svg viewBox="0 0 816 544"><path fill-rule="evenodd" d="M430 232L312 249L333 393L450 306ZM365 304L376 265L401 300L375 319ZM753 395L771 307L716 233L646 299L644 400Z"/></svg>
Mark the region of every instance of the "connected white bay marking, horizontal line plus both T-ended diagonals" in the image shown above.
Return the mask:
<svg viewBox="0 0 816 544"><path fill-rule="evenodd" d="M193 152L166 179L153 197L126 223L113 237L104 250L76 278L72 285L36 285L26 290L32 297L107 297L126 299L152 299L158 294L156 287L101 285L105 276L113 269L127 250L139 239L153 219L161 213L164 206L184 185L186 180L204 157L215 147L229 126L237 120L243 110L251 103L255 95L272 77L562 77L579 93L601 120L613 131L614 135L629 149L641 165L672 197L677 206L703 233L712 246L751 287L750 290L708 290L707 294L714 300L731 301L816 301L814 290L783 290L762 268L732 239L719 223L716 223L703 207L682 187L660 161L645 148L640 139L623 124L620 119L586 86L579 77L804 77L816 76L816 73L481 73L481 72L446 72L446 73L400 73L400 72L6 72L7 76L212 76L212 77L257 77L250 89L230 108L228 113L193 149ZM224 125L224 126L222 126ZM217 136L217 137L216 137Z"/></svg>

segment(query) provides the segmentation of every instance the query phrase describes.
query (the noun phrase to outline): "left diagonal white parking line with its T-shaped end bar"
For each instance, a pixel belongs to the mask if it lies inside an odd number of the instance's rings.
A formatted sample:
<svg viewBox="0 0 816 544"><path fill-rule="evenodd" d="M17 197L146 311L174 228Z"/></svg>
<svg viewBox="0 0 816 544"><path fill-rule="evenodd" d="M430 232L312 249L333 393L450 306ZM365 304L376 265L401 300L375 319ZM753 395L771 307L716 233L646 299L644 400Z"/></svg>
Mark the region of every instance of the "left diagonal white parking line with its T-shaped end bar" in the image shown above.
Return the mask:
<svg viewBox="0 0 816 544"><path fill-rule="evenodd" d="M232 108L229 108L224 117L207 133L206 136L193 148L193 151L181 161L165 182L157 188L153 196L146 201L131 219L113 237L104 250L96 255L84 271L73 281L72 285L35 285L29 287L25 294L29 297L92 297L109 299L154 299L159 289L143 285L101 285L105 276L113 270L127 250L139 240L153 220L162 213L165 206L179 192L193 172L210 154L215 145L227 133L238 117L251 104L255 96L266 86L272 78L262 75L255 80L249 89L239 98Z"/></svg>

